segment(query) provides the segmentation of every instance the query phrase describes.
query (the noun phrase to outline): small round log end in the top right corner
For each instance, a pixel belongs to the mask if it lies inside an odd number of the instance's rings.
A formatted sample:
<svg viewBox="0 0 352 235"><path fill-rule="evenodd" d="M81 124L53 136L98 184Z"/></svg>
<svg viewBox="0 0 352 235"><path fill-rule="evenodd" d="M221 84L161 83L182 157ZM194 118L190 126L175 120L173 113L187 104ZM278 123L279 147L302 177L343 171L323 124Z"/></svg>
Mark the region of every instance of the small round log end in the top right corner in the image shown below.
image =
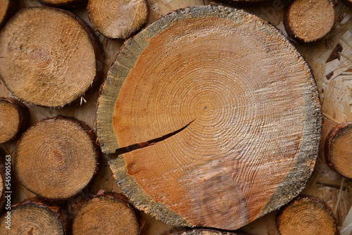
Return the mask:
<svg viewBox="0 0 352 235"><path fill-rule="evenodd" d="M335 11L330 0L295 0L284 25L290 37L308 43L322 39L334 26Z"/></svg>

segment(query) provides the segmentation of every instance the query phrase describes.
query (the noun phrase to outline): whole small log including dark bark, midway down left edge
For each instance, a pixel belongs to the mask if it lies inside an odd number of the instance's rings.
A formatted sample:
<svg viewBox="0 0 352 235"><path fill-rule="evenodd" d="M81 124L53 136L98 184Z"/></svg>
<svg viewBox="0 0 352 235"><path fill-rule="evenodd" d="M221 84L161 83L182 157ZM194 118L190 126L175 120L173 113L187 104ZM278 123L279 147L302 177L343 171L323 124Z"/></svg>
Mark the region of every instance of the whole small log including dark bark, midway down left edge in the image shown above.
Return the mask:
<svg viewBox="0 0 352 235"><path fill-rule="evenodd" d="M13 98L0 98L0 144L20 137L29 120L27 106Z"/></svg>

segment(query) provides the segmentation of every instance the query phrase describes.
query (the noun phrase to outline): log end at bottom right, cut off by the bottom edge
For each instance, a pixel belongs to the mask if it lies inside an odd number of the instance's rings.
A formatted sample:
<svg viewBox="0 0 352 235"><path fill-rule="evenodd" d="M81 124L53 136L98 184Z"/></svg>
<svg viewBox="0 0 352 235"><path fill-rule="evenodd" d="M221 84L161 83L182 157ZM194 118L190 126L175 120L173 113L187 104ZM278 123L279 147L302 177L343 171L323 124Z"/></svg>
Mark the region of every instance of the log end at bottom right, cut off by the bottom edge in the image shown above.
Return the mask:
<svg viewBox="0 0 352 235"><path fill-rule="evenodd" d="M296 198L277 217L280 235L338 235L331 208L318 198Z"/></svg>

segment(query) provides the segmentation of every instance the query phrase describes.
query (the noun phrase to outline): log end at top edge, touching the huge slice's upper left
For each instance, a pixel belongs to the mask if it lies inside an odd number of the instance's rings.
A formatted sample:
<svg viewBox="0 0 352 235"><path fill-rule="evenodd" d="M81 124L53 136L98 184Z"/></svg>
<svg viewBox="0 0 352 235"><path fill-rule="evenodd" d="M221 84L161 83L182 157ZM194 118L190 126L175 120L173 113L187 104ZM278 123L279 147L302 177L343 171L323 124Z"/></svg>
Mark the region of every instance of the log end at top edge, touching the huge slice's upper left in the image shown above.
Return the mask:
<svg viewBox="0 0 352 235"><path fill-rule="evenodd" d="M101 34L110 38L130 37L146 23L146 0L89 0L89 20Z"/></svg>

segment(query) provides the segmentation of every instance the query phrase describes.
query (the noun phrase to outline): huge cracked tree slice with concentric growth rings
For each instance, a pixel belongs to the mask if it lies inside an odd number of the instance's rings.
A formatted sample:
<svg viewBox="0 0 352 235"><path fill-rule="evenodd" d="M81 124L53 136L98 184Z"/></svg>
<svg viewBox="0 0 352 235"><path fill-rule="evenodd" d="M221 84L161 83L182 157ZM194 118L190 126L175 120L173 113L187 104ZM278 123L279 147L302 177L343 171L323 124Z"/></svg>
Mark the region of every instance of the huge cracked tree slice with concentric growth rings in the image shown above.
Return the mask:
<svg viewBox="0 0 352 235"><path fill-rule="evenodd" d="M175 225L237 229L288 203L318 154L318 90L275 27L190 7L128 40L99 99L103 151L134 205Z"/></svg>

